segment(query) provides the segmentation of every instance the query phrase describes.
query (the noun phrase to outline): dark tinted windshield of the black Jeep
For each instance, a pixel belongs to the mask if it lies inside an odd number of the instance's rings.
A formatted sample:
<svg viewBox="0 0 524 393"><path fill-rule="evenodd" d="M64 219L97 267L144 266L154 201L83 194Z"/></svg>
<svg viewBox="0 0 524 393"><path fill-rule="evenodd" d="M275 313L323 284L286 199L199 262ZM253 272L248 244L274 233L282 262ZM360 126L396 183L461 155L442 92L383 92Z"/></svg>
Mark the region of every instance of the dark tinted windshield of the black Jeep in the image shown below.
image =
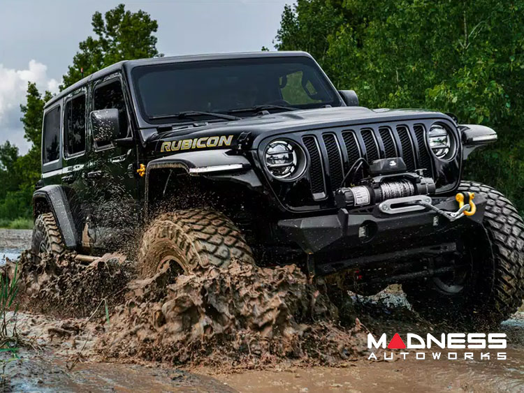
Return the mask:
<svg viewBox="0 0 524 393"><path fill-rule="evenodd" d="M261 109L273 112L286 110L284 107L341 105L336 91L307 57L139 66L131 75L140 111L152 123L187 121L187 116L180 117L187 111L235 112L242 117ZM211 115L199 116L217 120Z"/></svg>

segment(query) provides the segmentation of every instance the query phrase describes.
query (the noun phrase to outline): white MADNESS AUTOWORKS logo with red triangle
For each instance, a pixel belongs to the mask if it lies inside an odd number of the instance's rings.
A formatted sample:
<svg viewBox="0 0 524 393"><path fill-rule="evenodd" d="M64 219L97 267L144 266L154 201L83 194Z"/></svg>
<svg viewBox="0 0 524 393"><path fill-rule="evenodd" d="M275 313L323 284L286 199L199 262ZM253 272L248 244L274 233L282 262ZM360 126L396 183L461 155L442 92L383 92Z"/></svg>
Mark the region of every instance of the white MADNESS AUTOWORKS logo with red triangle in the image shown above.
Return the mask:
<svg viewBox="0 0 524 393"><path fill-rule="evenodd" d="M404 350L404 351L381 351L377 356L373 352L374 349L390 349L390 350ZM406 359L412 353L409 350L419 350L415 352L416 360L428 359L449 359L456 360L459 357L462 359L473 360L475 357L480 360L505 360L507 354L505 352L490 353L484 352L486 349L505 349L507 347L507 340L505 333L442 333L440 336L433 336L427 334L425 338L419 334L408 333L405 341L402 340L400 334L395 333L388 343L386 333L382 334L377 340L369 333L367 334L367 348L371 351L367 357L368 360L393 360L395 357ZM476 353L467 350L477 349ZM421 351L423 350L423 351ZM447 351L442 351L447 350ZM451 351L449 351L451 350ZM466 350L458 351L454 350Z"/></svg>

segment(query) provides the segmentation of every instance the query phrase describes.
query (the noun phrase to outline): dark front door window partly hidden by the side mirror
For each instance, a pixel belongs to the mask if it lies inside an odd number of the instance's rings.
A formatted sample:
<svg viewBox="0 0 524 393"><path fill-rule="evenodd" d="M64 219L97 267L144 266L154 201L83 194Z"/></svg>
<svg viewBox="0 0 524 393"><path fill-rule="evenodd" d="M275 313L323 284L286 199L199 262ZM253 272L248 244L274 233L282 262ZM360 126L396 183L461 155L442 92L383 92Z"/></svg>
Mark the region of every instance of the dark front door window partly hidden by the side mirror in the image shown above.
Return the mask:
<svg viewBox="0 0 524 393"><path fill-rule="evenodd" d="M122 84L119 80L115 80L108 84L102 84L96 87L93 93L93 110L112 109L116 108L119 114L120 135L119 138L126 138L129 127L127 124L126 102L124 101L124 93L122 91ZM96 147L104 147L110 144L97 143Z"/></svg>

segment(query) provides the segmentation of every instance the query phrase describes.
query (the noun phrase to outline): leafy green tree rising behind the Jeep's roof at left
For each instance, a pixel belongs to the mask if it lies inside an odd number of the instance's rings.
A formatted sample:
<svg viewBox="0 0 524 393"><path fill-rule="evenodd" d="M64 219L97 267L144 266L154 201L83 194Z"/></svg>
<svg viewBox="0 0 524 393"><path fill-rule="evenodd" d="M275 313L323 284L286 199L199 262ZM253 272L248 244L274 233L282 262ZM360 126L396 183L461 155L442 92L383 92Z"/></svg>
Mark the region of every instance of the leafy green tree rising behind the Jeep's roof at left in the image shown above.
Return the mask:
<svg viewBox="0 0 524 393"><path fill-rule="evenodd" d="M73 57L61 89L121 60L163 56L153 35L158 23L143 10L131 13L124 4L119 4L104 16L94 13L91 24L96 37L89 36L80 43L80 51Z"/></svg>

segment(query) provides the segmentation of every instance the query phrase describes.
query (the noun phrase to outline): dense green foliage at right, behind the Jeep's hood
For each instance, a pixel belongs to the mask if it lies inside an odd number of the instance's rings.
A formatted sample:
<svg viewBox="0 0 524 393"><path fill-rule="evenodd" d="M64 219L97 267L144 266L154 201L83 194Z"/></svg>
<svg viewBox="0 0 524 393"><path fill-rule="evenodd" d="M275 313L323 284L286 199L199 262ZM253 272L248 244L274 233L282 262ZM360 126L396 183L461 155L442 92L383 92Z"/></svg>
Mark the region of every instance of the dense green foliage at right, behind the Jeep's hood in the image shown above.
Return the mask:
<svg viewBox="0 0 524 393"><path fill-rule="evenodd" d="M298 0L278 50L307 50L367 107L427 107L493 127L465 177L524 211L524 0Z"/></svg>

